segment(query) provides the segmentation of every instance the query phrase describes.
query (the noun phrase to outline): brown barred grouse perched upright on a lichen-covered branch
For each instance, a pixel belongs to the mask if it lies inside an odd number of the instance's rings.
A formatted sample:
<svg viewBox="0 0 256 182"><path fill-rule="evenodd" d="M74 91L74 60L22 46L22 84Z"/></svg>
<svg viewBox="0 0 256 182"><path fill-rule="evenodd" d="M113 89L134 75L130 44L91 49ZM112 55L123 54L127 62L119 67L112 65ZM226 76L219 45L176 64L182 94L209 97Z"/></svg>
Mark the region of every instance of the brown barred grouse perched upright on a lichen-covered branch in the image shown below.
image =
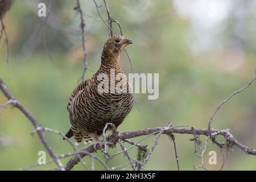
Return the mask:
<svg viewBox="0 0 256 182"><path fill-rule="evenodd" d="M69 97L67 109L71 129L65 137L74 136L76 145L80 144L82 139L85 144L100 142L98 137L102 135L106 123L113 123L117 128L130 113L134 96L129 82L122 78L120 82L127 86L124 88L127 92L113 93L111 81L99 79L102 74L111 77L113 70L114 76L124 74L120 65L120 56L129 44L133 44L133 40L121 35L109 38L102 49L98 71L88 80L80 82ZM110 83L110 87L106 89L108 92L99 92L102 90L98 87L101 82ZM114 84L117 82L115 80Z"/></svg>

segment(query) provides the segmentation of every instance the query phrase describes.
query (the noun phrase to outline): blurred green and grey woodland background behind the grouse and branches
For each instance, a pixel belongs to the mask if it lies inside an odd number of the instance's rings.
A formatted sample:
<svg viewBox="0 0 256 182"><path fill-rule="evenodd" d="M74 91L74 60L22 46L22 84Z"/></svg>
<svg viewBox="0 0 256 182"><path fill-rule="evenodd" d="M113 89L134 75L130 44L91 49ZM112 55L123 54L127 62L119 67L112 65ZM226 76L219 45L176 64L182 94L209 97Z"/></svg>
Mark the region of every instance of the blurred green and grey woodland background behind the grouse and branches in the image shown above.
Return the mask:
<svg viewBox="0 0 256 182"><path fill-rule="evenodd" d="M47 7L49 1L45 2ZM137 73L159 73L159 98L148 100L147 94L137 94L141 111L134 106L120 131L189 125L207 128L216 106L232 92L245 86L255 76L256 68L256 2L221 0L174 1L108 1L113 18L121 23L123 34L133 39L127 47ZM1 41L0 76L16 98L45 127L62 133L68 131L67 103L82 73L80 16L73 10L76 1L52 2L46 29L46 42L54 63L43 46L44 18L37 15L39 1L16 0L4 22L9 36L10 66L6 64L6 48ZM104 3L97 1L102 16L107 19ZM108 28L97 14L93 1L81 1L86 23L88 64L93 72L100 66L101 49L109 38ZM118 27L114 26L114 34ZM122 54L122 68L130 73L129 60ZM10 78L9 78L10 73ZM256 85L230 100L214 118L215 129L230 129L241 143L256 146ZM6 98L0 94L0 103ZM0 169L20 169L38 162L38 152L45 150L38 136L30 135L30 122L19 110L8 107L0 115L0 134L5 146L0 148ZM72 151L58 135L46 133L57 154ZM193 170L200 159L193 155L192 136L176 135L181 170ZM138 140L134 139L134 140ZM155 137L144 140L148 147ZM204 138L202 138L204 139ZM221 138L220 138L221 140ZM81 146L82 147L82 146ZM110 149L109 153L120 150ZM210 142L208 151L217 152L218 169L222 153ZM199 151L200 152L200 151ZM101 152L98 156L104 158ZM132 150L135 158L137 150ZM47 154L47 160L50 160ZM67 162L64 159L63 162ZM85 161L90 164L89 159ZM127 163L123 155L108 162L109 166ZM32 168L54 167L54 164ZM125 168L130 168L126 166ZM160 137L145 169L176 170L171 140ZM75 169L80 170L81 164ZM96 163L96 169L103 169ZM228 154L226 170L256 169L255 156L238 148Z"/></svg>

